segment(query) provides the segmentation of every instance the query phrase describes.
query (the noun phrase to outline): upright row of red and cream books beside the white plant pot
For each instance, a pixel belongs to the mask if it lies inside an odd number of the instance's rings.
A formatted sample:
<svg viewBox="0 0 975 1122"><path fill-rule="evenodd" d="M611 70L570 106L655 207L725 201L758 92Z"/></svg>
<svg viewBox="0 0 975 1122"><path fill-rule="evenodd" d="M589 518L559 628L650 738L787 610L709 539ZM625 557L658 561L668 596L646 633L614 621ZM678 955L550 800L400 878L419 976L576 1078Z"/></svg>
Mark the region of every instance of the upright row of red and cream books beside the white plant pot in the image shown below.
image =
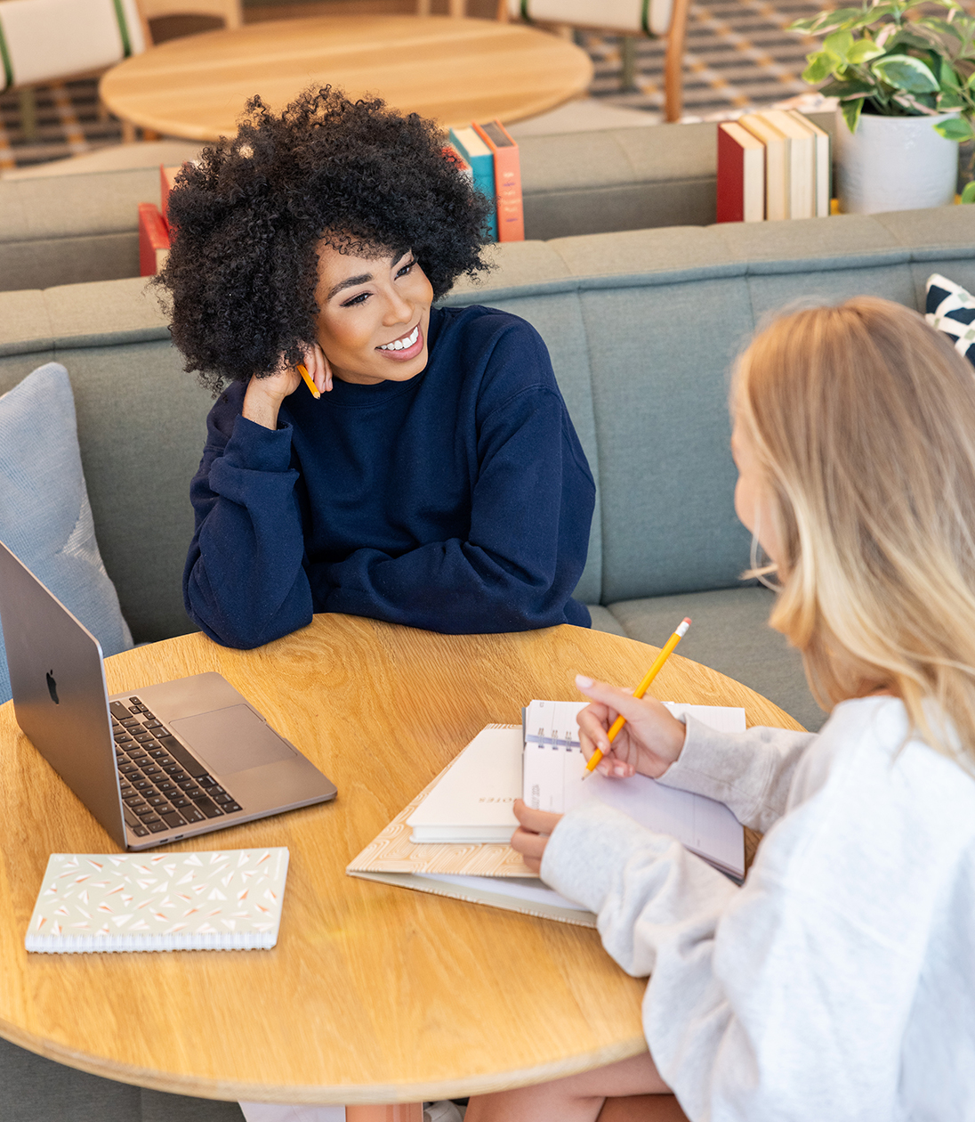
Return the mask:
<svg viewBox="0 0 975 1122"><path fill-rule="evenodd" d="M746 113L717 128L717 221L825 218L829 134L798 110Z"/></svg>

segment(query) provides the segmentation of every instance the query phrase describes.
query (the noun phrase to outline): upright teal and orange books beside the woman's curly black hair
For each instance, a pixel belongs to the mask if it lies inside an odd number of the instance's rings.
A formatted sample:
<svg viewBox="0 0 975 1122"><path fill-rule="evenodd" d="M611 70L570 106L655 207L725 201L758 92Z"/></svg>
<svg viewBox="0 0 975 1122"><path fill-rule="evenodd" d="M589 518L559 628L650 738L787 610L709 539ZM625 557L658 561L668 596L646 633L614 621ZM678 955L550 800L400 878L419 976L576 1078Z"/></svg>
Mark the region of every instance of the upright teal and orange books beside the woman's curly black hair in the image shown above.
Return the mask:
<svg viewBox="0 0 975 1122"><path fill-rule="evenodd" d="M447 153L491 203L486 234L492 241L524 241L521 162L518 145L501 121L451 129Z"/></svg>

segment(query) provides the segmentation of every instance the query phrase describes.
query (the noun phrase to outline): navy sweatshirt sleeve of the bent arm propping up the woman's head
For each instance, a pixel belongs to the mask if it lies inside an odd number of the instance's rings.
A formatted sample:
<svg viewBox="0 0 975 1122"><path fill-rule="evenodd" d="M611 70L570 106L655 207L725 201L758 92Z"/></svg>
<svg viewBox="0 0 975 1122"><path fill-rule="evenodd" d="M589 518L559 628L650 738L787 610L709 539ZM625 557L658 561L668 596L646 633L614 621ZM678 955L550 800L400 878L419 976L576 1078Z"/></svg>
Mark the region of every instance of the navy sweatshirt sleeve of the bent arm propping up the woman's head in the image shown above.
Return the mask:
<svg viewBox="0 0 975 1122"><path fill-rule="evenodd" d="M189 617L224 646L254 647L312 622L295 498L291 429L266 429L234 408L232 387L207 419L191 484L196 530L183 595Z"/></svg>

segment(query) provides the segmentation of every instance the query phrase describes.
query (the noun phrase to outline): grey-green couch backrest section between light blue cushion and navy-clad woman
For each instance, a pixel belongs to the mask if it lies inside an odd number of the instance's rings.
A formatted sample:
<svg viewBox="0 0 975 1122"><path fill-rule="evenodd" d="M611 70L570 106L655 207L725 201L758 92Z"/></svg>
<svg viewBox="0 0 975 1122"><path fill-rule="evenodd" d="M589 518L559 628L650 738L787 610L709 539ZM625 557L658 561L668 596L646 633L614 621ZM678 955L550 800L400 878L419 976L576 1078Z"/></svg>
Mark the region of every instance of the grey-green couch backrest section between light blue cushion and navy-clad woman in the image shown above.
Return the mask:
<svg viewBox="0 0 975 1122"><path fill-rule="evenodd" d="M0 340L0 392L38 356L71 370L99 545L136 641L194 631L182 592L189 480L213 403L184 373L158 300L139 277L0 293L0 323L15 304L21 328L10 346Z"/></svg>

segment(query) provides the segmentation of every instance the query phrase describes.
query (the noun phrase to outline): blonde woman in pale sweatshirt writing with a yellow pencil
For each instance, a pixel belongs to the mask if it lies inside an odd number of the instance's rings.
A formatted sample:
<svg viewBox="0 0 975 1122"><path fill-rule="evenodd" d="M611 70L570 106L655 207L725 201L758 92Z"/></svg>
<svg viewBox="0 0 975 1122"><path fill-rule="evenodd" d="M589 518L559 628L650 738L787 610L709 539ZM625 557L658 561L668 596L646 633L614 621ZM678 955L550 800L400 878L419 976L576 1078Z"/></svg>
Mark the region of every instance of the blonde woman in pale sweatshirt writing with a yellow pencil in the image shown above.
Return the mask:
<svg viewBox="0 0 975 1122"><path fill-rule="evenodd" d="M516 848L650 975L650 1050L472 1100L467 1122L975 1119L972 368L862 297L763 331L732 412L735 508L781 587L771 624L832 716L728 736L577 679L605 773L721 799L765 837L737 888L598 803L519 806Z"/></svg>

